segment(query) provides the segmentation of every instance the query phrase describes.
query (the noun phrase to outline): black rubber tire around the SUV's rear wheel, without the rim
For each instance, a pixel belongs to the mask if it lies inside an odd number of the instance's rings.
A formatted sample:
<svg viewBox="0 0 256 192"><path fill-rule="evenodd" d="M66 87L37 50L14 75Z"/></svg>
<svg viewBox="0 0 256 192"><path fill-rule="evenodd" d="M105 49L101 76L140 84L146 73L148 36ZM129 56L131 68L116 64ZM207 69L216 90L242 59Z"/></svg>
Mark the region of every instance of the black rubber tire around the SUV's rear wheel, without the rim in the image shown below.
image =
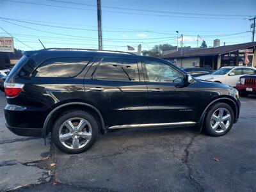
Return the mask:
<svg viewBox="0 0 256 192"><path fill-rule="evenodd" d="M61 129L61 125L63 125L63 123L69 120L70 118L83 118L84 120L89 122L89 124L92 127L92 136L90 138L90 141L88 141L88 143L84 147L68 148L68 147L65 147L65 145L63 145L60 141L59 132ZM56 145L56 147L59 148L61 151L66 152L68 154L79 154L81 152L88 150L90 147L92 147L93 143L95 143L98 133L99 133L99 125L97 123L97 120L90 113L87 113L85 111L79 111L79 110L67 111L66 113L61 115L60 118L56 120L54 127L52 128L52 140L53 140L53 143Z"/></svg>

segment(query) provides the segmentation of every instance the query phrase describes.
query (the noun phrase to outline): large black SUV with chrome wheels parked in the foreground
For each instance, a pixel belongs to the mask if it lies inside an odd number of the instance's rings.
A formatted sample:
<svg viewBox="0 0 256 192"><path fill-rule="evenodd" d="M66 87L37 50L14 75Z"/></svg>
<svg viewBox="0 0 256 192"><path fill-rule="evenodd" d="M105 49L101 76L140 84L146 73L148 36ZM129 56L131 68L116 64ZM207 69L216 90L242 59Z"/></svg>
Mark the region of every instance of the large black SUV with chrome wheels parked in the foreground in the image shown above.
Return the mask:
<svg viewBox="0 0 256 192"><path fill-rule="evenodd" d="M72 154L111 129L197 126L222 136L240 108L236 89L128 52L26 51L4 91L8 129L43 138L51 132L55 145Z"/></svg>

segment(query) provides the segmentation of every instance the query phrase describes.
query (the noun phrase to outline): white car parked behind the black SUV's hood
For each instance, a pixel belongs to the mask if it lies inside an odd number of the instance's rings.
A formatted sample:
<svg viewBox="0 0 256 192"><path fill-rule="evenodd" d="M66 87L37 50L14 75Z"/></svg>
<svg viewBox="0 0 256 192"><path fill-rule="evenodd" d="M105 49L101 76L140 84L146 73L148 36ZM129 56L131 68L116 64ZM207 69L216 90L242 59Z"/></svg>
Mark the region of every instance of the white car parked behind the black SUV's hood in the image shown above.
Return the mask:
<svg viewBox="0 0 256 192"><path fill-rule="evenodd" d="M256 68L235 66L221 67L210 75L199 76L196 77L196 79L225 83L235 87L239 78L246 74L256 74Z"/></svg>

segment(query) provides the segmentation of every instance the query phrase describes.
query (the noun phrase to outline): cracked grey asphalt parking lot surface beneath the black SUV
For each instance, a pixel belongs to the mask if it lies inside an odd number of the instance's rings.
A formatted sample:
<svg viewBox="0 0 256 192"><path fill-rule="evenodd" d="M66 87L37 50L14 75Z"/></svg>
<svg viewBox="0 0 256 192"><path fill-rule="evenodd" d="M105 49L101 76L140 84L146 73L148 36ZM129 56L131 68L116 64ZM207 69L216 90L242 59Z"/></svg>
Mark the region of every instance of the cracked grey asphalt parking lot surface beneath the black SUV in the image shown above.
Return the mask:
<svg viewBox="0 0 256 192"><path fill-rule="evenodd" d="M0 191L256 191L256 97L241 98L227 135L193 127L115 131L83 154L50 138L24 138L4 125L0 93Z"/></svg>

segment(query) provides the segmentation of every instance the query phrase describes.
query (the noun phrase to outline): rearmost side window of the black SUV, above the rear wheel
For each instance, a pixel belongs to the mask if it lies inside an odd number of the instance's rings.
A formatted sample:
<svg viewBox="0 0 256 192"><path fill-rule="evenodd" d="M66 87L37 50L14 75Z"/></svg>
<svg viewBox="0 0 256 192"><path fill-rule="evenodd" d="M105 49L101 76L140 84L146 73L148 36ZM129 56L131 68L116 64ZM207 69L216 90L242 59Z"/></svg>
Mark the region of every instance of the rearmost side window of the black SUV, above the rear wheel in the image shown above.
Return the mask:
<svg viewBox="0 0 256 192"><path fill-rule="evenodd" d="M77 76L92 58L54 58L44 61L33 72L35 77Z"/></svg>

